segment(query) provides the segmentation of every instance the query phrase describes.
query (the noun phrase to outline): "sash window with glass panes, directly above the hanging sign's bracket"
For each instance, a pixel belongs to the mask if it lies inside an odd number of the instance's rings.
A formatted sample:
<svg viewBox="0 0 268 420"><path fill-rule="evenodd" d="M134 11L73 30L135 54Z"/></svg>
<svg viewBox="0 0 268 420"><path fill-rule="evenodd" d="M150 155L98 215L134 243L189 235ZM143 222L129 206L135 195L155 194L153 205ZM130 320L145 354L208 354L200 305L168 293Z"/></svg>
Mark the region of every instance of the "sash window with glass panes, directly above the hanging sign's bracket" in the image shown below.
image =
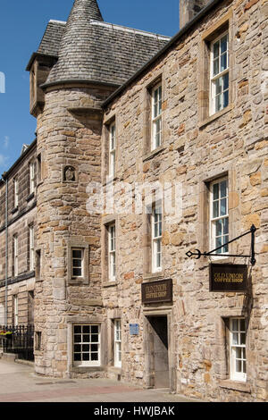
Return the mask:
<svg viewBox="0 0 268 420"><path fill-rule="evenodd" d="M211 248L222 247L229 241L228 180L211 183L210 231ZM227 254L228 245L217 249L216 254Z"/></svg>

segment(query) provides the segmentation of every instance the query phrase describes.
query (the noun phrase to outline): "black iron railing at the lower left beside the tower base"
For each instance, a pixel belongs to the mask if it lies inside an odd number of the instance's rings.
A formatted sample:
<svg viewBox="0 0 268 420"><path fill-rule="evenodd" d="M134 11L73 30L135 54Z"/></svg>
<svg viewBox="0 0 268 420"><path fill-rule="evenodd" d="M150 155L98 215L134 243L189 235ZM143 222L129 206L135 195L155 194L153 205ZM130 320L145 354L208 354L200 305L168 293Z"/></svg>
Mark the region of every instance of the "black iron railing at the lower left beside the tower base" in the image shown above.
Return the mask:
<svg viewBox="0 0 268 420"><path fill-rule="evenodd" d="M0 347L23 360L34 360L34 325L0 325Z"/></svg>

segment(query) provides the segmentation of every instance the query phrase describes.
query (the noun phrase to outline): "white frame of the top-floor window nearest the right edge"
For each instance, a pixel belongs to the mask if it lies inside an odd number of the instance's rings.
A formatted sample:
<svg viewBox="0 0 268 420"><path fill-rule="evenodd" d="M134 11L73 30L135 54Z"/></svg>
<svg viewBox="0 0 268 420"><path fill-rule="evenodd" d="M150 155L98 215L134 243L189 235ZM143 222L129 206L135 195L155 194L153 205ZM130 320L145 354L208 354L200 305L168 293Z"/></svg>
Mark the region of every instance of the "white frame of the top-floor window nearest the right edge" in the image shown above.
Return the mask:
<svg viewBox="0 0 268 420"><path fill-rule="evenodd" d="M214 44L218 41L221 41L227 35L227 67L223 71L219 68L219 72L214 75ZM220 42L221 45L221 42ZM220 46L221 48L221 46ZM221 62L221 49L219 50L219 57ZM220 65L221 63L219 63ZM223 83L223 76L229 74L230 76L230 68L229 68L229 31L223 32L218 38L215 38L214 41L211 42L211 49L210 49L210 115L214 115L214 113L218 113L222 111L226 106L230 104L230 79L228 82L228 88L223 90L222 87L222 106L220 109L216 110L216 81L222 79ZM223 93L228 90L228 104L223 107Z"/></svg>

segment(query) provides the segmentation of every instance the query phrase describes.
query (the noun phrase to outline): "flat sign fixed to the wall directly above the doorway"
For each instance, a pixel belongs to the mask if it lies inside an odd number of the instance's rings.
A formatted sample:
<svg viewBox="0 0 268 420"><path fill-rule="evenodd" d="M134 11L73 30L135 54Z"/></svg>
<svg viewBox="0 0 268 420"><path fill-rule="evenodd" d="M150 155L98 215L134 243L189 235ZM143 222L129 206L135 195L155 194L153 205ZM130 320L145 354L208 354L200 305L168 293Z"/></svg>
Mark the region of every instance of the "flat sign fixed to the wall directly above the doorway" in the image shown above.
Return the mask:
<svg viewBox="0 0 268 420"><path fill-rule="evenodd" d="M141 285L142 303L172 302L172 279L150 281Z"/></svg>

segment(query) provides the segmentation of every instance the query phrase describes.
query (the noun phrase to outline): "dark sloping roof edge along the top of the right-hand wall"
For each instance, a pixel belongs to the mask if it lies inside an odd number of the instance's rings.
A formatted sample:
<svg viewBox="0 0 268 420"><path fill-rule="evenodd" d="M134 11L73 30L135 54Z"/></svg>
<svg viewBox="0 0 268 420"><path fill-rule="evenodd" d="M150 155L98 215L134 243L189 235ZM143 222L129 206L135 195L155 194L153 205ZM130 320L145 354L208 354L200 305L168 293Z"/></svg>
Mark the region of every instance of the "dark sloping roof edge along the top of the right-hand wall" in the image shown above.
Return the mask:
<svg viewBox="0 0 268 420"><path fill-rule="evenodd" d="M205 16L206 13L210 12L210 10L216 4L221 3L221 2L222 0L212 0L210 3L206 4L205 7L199 13L197 13L197 15L193 19L191 19L191 21L188 21L188 23L183 28L181 28L179 32L177 32L177 34L175 34L174 37L172 37L172 39L165 46L163 46L163 48L161 48L158 51L158 53L156 53L147 63L145 63L135 74L133 74L133 76L131 76L129 80L123 83L120 88L115 90L115 92L113 92L113 94L110 95L110 97L107 97L107 99L103 102L102 107L105 108L105 106L110 104L110 102L112 102L115 97L118 97L118 95L130 85L130 83L136 80L138 76L140 76L144 71L146 71L148 67L150 67L150 65L155 63L155 61L161 55L163 55L166 51L168 51L172 47L172 45L175 44L175 42L177 42L198 21L200 21Z"/></svg>

